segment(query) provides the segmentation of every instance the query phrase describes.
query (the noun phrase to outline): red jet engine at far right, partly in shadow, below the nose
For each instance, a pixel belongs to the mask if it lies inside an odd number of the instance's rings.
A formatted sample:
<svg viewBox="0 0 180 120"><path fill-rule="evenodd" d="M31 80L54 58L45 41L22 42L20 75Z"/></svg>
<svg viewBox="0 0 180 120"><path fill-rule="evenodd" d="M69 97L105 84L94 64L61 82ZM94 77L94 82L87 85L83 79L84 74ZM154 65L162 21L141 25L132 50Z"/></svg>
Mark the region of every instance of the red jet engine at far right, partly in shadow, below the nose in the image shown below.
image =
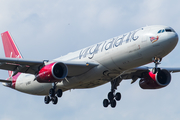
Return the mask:
<svg viewBox="0 0 180 120"><path fill-rule="evenodd" d="M141 78L139 86L142 89L159 89L171 82L171 74L167 70L159 70L156 74L149 72Z"/></svg>

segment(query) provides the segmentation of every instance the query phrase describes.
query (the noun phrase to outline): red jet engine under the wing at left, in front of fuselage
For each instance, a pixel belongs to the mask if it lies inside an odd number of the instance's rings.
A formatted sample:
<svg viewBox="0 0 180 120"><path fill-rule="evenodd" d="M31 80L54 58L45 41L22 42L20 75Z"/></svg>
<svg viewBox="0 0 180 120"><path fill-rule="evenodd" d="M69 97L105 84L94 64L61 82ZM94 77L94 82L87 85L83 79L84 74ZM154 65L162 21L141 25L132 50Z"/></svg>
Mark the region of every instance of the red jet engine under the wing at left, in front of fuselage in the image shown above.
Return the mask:
<svg viewBox="0 0 180 120"><path fill-rule="evenodd" d="M64 63L51 63L39 71L36 79L40 83L60 82L67 76L67 73L68 69Z"/></svg>

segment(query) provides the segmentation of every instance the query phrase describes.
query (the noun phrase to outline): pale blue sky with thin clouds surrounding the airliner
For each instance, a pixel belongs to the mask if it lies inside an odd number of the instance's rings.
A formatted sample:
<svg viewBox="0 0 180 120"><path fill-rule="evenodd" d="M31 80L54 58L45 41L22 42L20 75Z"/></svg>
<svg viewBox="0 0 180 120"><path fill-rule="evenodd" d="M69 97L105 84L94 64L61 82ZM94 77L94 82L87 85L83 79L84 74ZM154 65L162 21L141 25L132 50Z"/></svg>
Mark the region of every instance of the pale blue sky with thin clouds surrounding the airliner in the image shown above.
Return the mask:
<svg viewBox="0 0 180 120"><path fill-rule="evenodd" d="M179 0L0 0L0 33L9 31L25 59L52 60L147 25L167 25L180 34ZM180 67L180 43L160 66ZM0 57L4 57L0 42ZM152 66L150 64L149 66ZM115 109L102 105L110 83L66 91L57 105L43 96L0 86L0 120L179 120L180 73L170 85L143 90L122 81ZM0 71L0 78L8 77Z"/></svg>

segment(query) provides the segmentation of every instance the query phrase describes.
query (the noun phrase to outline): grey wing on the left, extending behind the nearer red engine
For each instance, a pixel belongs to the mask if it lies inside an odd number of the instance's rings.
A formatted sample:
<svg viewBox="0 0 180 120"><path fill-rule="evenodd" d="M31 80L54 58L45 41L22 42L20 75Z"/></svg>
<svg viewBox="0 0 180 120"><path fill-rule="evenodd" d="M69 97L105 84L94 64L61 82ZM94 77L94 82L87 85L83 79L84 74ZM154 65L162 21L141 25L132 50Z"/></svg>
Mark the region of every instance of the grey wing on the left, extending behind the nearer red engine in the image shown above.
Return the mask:
<svg viewBox="0 0 180 120"><path fill-rule="evenodd" d="M97 66L97 63L84 61L57 61L62 62L68 67L68 76L80 75L91 68ZM19 58L0 58L0 69L36 74L41 67L45 65L45 61L25 60Z"/></svg>

